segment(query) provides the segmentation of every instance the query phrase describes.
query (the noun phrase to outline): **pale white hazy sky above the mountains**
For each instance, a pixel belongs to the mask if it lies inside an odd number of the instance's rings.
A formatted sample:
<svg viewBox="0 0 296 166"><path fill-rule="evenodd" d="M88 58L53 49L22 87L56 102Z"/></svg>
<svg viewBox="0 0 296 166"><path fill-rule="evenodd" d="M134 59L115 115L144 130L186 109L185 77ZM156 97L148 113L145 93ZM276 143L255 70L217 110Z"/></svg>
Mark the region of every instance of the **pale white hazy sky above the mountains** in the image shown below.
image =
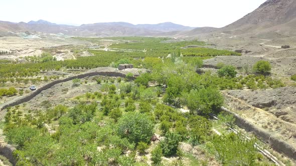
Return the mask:
<svg viewBox="0 0 296 166"><path fill-rule="evenodd" d="M174 22L222 27L256 9L265 0L2 0L0 20L44 19L75 24L124 21Z"/></svg>

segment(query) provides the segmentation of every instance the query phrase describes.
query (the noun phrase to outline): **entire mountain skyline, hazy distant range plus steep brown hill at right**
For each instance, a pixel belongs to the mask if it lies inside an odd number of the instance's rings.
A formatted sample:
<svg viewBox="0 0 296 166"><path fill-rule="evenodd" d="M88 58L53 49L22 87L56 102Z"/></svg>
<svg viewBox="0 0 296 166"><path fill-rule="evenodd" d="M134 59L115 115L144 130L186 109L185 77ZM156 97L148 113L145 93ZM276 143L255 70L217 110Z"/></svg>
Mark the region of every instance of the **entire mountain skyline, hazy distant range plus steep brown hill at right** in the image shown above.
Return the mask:
<svg viewBox="0 0 296 166"><path fill-rule="evenodd" d="M296 0L267 0L241 19L222 28L190 27L172 22L131 24L104 22L64 25L45 20L26 22L0 21L0 35L12 32L64 33L77 36L195 36L198 34L228 33L265 38L289 37L296 34Z"/></svg>

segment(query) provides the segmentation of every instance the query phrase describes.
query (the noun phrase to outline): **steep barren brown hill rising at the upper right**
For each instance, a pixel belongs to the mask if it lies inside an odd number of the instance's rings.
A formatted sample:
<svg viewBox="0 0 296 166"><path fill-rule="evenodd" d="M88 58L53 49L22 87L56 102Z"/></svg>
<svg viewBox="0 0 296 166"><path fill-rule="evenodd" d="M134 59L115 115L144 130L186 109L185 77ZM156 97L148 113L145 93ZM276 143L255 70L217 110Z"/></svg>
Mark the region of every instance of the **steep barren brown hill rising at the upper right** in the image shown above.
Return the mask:
<svg viewBox="0 0 296 166"><path fill-rule="evenodd" d="M241 19L220 31L242 34L248 32L292 35L296 32L296 0L267 0Z"/></svg>

